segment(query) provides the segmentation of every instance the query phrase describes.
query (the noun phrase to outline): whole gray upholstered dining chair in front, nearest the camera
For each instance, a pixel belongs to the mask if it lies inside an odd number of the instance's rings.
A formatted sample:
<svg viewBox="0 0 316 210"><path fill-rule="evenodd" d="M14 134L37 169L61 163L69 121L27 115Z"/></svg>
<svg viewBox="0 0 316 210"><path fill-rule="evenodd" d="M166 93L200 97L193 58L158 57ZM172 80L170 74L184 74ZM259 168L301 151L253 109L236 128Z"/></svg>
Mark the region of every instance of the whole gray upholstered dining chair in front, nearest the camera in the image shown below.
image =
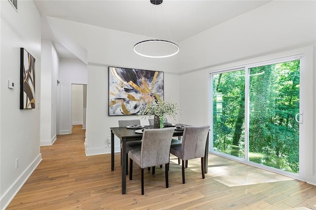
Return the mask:
<svg viewBox="0 0 316 210"><path fill-rule="evenodd" d="M165 165L166 188L169 187L168 170L171 138L174 127L145 129L141 148L130 150L129 180L132 180L133 162L141 168L141 189L144 195L144 168Z"/></svg>

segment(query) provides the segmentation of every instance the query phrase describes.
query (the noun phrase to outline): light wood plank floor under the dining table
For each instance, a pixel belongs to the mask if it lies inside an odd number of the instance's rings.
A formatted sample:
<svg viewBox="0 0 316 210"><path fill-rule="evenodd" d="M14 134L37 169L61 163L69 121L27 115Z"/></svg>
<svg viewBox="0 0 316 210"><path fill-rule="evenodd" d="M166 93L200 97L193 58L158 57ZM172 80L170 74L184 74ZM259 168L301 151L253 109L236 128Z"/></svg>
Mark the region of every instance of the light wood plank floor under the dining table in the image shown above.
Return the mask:
<svg viewBox="0 0 316 210"><path fill-rule="evenodd" d="M7 210L316 210L316 186L214 155L205 179L200 160L189 161L186 184L171 157L169 188L164 168L146 170L144 196L134 165L122 195L119 153L111 171L110 154L86 157L83 143L84 130L75 126L72 135L41 147L42 162Z"/></svg>

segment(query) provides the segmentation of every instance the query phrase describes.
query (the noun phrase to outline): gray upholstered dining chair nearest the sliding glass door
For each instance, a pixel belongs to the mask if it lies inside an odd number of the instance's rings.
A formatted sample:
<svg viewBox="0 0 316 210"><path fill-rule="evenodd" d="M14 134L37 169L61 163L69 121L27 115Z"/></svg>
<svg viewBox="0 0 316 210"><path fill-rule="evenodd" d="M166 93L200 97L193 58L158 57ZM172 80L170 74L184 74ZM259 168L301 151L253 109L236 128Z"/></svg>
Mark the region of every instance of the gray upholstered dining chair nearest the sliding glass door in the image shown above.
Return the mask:
<svg viewBox="0 0 316 210"><path fill-rule="evenodd" d="M181 144L171 145L170 153L182 160L182 183L185 183L185 161L201 158L202 178L205 178L205 145L210 126L187 126Z"/></svg>

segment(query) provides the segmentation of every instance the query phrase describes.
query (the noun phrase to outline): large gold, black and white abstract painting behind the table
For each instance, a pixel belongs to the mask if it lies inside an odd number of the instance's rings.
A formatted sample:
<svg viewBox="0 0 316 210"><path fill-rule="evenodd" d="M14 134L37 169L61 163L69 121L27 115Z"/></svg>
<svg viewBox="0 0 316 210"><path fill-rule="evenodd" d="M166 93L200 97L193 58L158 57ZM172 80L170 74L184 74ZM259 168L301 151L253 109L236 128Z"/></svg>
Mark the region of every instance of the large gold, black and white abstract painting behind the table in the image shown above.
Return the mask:
<svg viewBox="0 0 316 210"><path fill-rule="evenodd" d="M163 100L163 72L109 67L109 116L138 115Z"/></svg>

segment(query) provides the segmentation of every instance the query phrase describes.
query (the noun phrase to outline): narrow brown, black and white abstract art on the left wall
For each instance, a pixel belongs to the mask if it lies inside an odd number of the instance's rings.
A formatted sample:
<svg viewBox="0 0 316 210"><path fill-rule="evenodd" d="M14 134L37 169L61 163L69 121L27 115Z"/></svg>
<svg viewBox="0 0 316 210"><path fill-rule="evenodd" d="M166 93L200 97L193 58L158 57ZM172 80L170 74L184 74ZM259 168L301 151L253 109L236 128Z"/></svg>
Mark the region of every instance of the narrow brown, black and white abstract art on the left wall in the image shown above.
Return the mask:
<svg viewBox="0 0 316 210"><path fill-rule="evenodd" d="M35 58L21 47L20 109L35 108Z"/></svg>

